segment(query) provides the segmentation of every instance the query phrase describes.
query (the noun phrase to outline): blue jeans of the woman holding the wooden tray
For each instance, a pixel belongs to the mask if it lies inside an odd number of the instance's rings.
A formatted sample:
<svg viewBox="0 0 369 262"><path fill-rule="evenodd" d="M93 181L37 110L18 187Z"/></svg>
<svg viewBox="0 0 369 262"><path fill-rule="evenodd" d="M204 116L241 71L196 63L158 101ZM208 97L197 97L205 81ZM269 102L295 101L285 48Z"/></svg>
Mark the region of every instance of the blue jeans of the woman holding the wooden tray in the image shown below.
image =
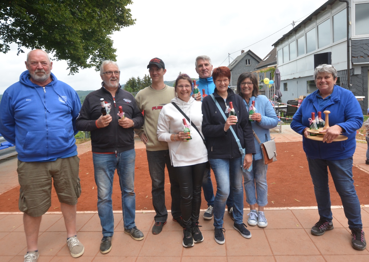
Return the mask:
<svg viewBox="0 0 369 262"><path fill-rule="evenodd" d="M314 184L319 216L332 221L331 198L328 187L328 168L331 171L334 186L341 197L349 228L362 228L361 210L352 179L352 157L341 160L311 159L307 157L309 171Z"/></svg>

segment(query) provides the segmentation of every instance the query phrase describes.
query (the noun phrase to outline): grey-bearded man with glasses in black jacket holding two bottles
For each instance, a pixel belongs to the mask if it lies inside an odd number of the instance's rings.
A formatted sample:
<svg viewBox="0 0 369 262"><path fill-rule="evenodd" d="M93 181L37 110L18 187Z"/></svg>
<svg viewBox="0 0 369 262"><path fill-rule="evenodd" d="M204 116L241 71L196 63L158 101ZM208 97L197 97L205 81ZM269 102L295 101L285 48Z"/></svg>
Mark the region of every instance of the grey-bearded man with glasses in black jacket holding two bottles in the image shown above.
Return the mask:
<svg viewBox="0 0 369 262"><path fill-rule="evenodd" d="M130 92L119 84L118 64L111 60L101 63L100 76L103 80L99 90L88 94L76 120L77 129L91 132L92 159L95 182L97 185L97 211L103 228L100 252L111 250L114 233L114 217L111 194L115 169L118 172L122 192L124 232L134 240L144 239L144 234L135 224L134 170L135 149L133 129L144 124L136 100ZM100 99L110 108L104 116L101 114ZM110 104L110 105L108 105ZM124 117L121 119L119 106Z"/></svg>

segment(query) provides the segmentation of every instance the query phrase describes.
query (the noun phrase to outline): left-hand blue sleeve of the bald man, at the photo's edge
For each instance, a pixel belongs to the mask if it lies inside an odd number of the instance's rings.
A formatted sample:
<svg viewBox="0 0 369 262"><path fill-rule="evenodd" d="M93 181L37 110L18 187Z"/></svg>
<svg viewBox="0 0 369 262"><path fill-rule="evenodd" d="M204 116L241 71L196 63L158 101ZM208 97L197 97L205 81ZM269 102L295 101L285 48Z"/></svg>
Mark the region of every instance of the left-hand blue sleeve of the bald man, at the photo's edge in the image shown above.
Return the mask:
<svg viewBox="0 0 369 262"><path fill-rule="evenodd" d="M0 103L0 132L6 141L15 145L15 119L11 98L5 91Z"/></svg>

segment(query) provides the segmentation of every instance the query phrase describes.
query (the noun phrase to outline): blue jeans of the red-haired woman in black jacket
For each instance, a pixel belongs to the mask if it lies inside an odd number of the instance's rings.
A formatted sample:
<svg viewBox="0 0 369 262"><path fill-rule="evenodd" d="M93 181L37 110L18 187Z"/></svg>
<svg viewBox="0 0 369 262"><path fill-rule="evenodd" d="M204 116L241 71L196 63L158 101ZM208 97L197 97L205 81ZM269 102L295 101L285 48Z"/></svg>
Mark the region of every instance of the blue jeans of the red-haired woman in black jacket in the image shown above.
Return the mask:
<svg viewBox="0 0 369 262"><path fill-rule="evenodd" d="M217 193L214 199L214 227L223 227L225 204L229 195L232 195L233 198L234 222L241 224L244 215L241 157L230 159L211 158L209 161L217 181Z"/></svg>

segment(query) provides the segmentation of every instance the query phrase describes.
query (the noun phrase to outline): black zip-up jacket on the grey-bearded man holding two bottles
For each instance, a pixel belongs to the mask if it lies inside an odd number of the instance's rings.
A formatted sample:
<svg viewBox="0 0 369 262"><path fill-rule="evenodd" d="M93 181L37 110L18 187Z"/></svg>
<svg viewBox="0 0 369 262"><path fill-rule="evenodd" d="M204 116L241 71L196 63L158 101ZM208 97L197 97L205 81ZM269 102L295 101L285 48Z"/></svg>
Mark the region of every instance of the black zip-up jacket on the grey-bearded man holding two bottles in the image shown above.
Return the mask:
<svg viewBox="0 0 369 262"><path fill-rule="evenodd" d="M97 128L96 120L101 116L100 98L111 104L109 114L112 120L108 126ZM134 128L144 124L144 116L138 109L136 99L130 92L121 89L120 85L115 92L115 101L104 87L86 96L76 119L76 127L80 131L91 131L92 152L119 153L135 148L133 127L123 128L118 125L118 106L122 106L125 116L133 120Z"/></svg>

